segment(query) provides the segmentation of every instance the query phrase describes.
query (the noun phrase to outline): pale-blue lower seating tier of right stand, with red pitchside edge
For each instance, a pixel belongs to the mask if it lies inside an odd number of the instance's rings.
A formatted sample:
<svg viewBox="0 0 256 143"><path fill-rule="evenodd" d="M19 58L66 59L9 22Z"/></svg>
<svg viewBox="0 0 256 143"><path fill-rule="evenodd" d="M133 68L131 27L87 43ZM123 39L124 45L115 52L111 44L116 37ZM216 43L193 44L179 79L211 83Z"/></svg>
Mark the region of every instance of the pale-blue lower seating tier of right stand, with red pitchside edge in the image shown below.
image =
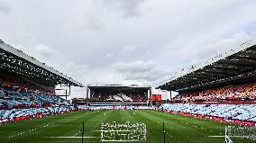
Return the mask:
<svg viewBox="0 0 256 143"><path fill-rule="evenodd" d="M160 106L160 110L256 126L256 104L166 103Z"/></svg>

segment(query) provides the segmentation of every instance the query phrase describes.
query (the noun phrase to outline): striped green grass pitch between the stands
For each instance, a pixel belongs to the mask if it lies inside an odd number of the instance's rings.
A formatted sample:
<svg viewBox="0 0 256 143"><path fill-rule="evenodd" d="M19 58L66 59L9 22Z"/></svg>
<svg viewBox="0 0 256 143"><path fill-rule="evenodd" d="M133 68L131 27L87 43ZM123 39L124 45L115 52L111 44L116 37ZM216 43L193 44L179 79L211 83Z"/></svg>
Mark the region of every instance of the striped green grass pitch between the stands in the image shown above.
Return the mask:
<svg viewBox="0 0 256 143"><path fill-rule="evenodd" d="M85 122L85 136L95 137L87 143L101 142L101 122L144 122L147 126L147 140L144 142L163 142L162 122L165 122L167 143L222 143L226 123L199 120L157 111L94 111L72 112L62 115L17 121L0 126L0 142L17 143L79 143L81 142L82 122ZM77 137L77 138L50 138ZM236 140L250 142L250 140Z"/></svg>

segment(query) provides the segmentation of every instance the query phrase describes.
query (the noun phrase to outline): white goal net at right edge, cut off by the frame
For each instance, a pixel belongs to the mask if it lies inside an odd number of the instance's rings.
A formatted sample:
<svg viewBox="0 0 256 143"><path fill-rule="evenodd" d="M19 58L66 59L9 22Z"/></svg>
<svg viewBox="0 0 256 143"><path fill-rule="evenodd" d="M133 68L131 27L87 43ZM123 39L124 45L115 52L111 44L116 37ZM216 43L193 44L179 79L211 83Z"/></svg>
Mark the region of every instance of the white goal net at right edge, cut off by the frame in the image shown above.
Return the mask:
<svg viewBox="0 0 256 143"><path fill-rule="evenodd" d="M256 141L256 128L251 126L226 126L225 142L235 143L235 139L250 139Z"/></svg>

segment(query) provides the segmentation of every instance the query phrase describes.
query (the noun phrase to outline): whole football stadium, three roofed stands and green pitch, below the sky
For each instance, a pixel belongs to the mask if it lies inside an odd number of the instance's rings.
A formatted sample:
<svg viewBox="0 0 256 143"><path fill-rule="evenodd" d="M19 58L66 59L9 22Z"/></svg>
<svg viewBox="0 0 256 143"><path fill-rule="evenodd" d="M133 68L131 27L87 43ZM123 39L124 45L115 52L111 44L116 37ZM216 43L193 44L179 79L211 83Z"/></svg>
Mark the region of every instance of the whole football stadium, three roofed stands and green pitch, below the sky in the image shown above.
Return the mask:
<svg viewBox="0 0 256 143"><path fill-rule="evenodd" d="M157 88L178 94L161 104L151 85L86 86L0 48L1 142L256 141L255 40L171 76ZM56 85L86 88L86 98L69 103Z"/></svg>

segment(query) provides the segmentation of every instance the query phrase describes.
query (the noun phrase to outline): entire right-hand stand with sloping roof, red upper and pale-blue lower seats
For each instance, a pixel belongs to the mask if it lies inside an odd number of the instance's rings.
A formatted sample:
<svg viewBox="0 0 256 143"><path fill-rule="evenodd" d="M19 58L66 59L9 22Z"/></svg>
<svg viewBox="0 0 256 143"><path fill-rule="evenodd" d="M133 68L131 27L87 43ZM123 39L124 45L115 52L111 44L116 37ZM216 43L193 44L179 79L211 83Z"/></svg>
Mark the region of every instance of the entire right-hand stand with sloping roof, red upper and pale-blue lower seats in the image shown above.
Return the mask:
<svg viewBox="0 0 256 143"><path fill-rule="evenodd" d="M256 40L174 74L159 88L177 91L160 111L256 126Z"/></svg>

